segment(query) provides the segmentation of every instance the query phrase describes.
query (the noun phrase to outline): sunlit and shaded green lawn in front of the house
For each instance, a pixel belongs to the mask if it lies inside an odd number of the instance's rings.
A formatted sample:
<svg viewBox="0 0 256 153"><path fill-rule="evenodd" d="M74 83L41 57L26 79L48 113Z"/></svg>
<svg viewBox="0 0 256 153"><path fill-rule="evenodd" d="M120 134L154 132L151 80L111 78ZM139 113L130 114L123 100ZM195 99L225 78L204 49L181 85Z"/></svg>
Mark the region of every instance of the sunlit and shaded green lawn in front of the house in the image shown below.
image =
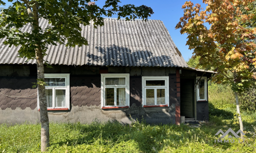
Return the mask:
<svg viewBox="0 0 256 153"><path fill-rule="evenodd" d="M199 128L187 125L148 125L135 122L91 124L51 123L49 152L256 152L256 113L242 111L245 143L215 143L215 134L239 130L232 94L212 92L210 121ZM253 125L253 126L252 126ZM0 152L40 152L40 124L0 125Z"/></svg>

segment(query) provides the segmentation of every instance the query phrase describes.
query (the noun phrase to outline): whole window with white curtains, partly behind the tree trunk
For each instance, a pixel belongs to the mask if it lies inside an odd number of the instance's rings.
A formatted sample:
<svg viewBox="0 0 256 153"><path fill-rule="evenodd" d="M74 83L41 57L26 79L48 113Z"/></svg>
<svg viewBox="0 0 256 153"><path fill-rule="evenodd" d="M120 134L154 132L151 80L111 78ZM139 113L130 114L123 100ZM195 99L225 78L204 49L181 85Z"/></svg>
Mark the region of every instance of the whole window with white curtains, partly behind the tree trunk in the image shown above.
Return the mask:
<svg viewBox="0 0 256 153"><path fill-rule="evenodd" d="M69 75L67 73L45 74L47 109L69 110ZM39 101L38 96L37 101ZM39 108L39 103L37 103L37 108Z"/></svg>

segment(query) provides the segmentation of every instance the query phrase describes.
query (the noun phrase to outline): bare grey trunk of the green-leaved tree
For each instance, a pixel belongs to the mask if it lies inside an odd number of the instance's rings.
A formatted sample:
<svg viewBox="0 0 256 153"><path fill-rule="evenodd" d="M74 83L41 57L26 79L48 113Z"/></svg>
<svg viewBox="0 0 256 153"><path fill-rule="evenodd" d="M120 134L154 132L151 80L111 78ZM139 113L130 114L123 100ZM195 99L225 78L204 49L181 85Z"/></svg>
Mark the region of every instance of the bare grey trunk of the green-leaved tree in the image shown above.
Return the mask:
<svg viewBox="0 0 256 153"><path fill-rule="evenodd" d="M33 12L28 6L28 13L33 16L35 22L32 25L32 30L39 30L39 19L38 19L38 7L37 3L33 5ZM37 82L45 82L45 71L44 71L44 61L42 56L42 49L40 45L36 45L35 56L37 63ZM40 108L40 122L41 122L41 151L47 151L47 147L50 146L50 134L49 134L49 118L47 112L47 102L46 102L46 88L45 84L37 84L38 89L38 99Z"/></svg>

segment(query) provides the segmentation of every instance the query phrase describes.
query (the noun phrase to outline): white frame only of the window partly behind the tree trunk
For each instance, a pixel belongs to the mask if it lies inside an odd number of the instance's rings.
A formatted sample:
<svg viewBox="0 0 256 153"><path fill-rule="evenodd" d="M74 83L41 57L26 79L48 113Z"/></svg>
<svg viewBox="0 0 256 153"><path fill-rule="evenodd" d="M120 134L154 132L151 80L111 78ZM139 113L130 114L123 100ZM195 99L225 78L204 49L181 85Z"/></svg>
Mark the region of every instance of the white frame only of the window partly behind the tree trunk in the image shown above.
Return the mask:
<svg viewBox="0 0 256 153"><path fill-rule="evenodd" d="M47 107L47 109L68 109L70 110L70 74L69 73L54 73L54 74L47 74L45 73L45 78L65 78L65 85L66 86L46 86L46 89L53 89L52 90L52 103L53 107ZM65 107L55 107L55 89L65 89L66 90L66 106ZM37 109L39 110L39 96L38 96L38 89L37 89Z"/></svg>

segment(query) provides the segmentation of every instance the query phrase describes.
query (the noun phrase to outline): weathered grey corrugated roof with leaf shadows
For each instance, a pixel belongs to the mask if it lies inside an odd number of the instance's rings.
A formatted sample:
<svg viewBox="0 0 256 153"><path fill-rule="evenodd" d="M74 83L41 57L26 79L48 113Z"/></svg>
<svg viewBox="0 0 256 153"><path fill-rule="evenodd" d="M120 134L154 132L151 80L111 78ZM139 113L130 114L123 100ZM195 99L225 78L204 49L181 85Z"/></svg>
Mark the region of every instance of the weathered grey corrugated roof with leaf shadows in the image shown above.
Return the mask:
<svg viewBox="0 0 256 153"><path fill-rule="evenodd" d="M40 19L39 25L45 29L49 24ZM91 21L81 28L88 46L49 45L44 60L59 65L188 67L160 20L105 18L102 27L94 29ZM30 28L27 25L23 30ZM0 64L36 64L36 60L17 58L19 47L9 48L4 41L0 39Z"/></svg>

